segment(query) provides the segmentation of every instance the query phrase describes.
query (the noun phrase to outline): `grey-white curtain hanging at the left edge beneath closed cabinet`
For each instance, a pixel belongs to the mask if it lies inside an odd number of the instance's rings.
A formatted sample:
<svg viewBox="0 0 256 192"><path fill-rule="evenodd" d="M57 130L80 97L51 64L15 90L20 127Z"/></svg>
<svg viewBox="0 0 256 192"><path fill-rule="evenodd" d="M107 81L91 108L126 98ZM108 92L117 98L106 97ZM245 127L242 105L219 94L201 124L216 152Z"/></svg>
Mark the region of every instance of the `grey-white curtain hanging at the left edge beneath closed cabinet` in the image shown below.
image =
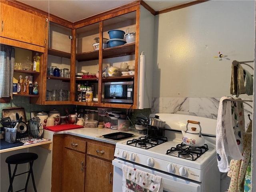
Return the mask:
<svg viewBox="0 0 256 192"><path fill-rule="evenodd" d="M12 96L15 49L0 45L0 98Z"/></svg>

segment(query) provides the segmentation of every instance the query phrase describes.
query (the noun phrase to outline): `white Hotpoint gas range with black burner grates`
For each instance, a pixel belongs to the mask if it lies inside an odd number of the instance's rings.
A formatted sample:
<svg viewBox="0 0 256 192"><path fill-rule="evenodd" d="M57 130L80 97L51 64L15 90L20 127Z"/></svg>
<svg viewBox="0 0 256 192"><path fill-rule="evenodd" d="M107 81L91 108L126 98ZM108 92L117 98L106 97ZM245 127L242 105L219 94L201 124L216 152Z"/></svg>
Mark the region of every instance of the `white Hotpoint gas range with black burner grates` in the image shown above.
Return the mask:
<svg viewBox="0 0 256 192"><path fill-rule="evenodd" d="M142 136L116 144L114 156L117 158L112 161L113 191L122 191L122 164L161 176L166 192L220 191L215 147L216 120L180 114L157 115L166 121L164 138L158 141ZM190 147L182 143L180 130L186 130L188 120L200 122L204 146Z"/></svg>

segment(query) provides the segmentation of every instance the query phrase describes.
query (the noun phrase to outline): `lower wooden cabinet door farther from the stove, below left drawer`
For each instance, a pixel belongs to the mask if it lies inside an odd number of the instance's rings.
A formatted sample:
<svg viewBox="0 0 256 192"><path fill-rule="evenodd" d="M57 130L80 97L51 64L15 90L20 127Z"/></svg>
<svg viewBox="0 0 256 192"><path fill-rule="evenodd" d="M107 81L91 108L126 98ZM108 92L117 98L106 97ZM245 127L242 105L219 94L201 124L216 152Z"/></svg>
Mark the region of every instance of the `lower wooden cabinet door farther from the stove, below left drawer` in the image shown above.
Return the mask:
<svg viewBox="0 0 256 192"><path fill-rule="evenodd" d="M64 148L62 192L84 192L85 154Z"/></svg>

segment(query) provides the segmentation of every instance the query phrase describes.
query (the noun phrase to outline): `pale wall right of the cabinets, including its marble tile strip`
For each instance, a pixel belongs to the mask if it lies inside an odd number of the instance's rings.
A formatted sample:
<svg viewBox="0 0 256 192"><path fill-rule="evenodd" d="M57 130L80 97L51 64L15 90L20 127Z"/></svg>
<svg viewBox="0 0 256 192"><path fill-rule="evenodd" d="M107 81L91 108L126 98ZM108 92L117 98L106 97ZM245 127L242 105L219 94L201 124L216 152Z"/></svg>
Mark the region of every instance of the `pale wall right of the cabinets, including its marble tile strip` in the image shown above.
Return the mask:
<svg viewBox="0 0 256 192"><path fill-rule="evenodd" d="M254 1L208 1L155 19L153 112L216 119L220 98L231 96L232 61L254 60Z"/></svg>

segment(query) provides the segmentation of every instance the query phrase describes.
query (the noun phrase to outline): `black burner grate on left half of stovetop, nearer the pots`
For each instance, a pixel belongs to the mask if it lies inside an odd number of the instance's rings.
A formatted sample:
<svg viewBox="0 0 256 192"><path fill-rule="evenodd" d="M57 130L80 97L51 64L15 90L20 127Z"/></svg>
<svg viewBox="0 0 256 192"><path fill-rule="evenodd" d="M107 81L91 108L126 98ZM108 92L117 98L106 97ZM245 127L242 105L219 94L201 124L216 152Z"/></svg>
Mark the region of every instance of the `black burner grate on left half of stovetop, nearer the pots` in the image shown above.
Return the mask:
<svg viewBox="0 0 256 192"><path fill-rule="evenodd" d="M137 139L132 139L126 142L127 145L135 146L138 148L150 149L154 146L160 145L164 142L167 142L167 137L151 137L151 136L142 136Z"/></svg>

